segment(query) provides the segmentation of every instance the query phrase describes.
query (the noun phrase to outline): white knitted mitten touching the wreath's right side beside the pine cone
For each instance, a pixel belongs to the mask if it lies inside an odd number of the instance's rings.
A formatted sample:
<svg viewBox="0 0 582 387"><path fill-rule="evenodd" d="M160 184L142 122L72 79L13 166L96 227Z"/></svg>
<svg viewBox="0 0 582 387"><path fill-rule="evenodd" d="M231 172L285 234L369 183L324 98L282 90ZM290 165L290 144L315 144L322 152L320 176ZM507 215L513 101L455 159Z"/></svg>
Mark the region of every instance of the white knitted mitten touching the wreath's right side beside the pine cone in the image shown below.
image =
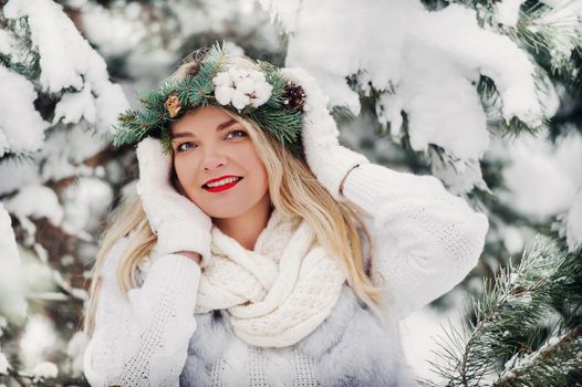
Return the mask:
<svg viewBox="0 0 582 387"><path fill-rule="evenodd" d="M343 200L340 196L343 178L354 166L370 160L340 145L337 126L326 106L329 98L313 76L300 67L282 69L281 73L305 92L301 136L308 165L332 197Z"/></svg>

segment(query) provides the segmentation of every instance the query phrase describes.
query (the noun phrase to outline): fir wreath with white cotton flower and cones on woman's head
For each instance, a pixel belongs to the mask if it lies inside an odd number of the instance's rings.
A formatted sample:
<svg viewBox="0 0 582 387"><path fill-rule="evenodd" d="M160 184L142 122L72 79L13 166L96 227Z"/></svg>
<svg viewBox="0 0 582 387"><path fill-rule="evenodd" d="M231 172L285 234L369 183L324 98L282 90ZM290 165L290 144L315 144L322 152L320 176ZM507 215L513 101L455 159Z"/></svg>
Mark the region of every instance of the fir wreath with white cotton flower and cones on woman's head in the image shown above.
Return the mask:
<svg viewBox="0 0 582 387"><path fill-rule="evenodd" d="M222 46L215 44L193 53L186 76L166 81L157 90L142 93L141 109L119 114L114 146L135 144L144 137L159 138L170 151L169 124L191 108L216 105L254 122L273 135L298 157L303 157L301 122L305 93L301 85L285 80L268 62L251 61L256 69L241 69L230 62Z"/></svg>

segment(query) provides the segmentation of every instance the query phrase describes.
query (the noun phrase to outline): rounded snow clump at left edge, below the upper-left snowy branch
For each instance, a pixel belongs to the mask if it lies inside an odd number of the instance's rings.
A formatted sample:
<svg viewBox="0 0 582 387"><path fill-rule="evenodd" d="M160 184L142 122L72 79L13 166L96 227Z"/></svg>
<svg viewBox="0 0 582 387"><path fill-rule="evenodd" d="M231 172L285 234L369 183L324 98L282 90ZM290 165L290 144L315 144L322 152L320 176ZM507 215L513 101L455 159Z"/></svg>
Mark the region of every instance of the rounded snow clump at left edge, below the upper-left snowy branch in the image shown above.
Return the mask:
<svg viewBox="0 0 582 387"><path fill-rule="evenodd" d="M34 108L37 97L32 83L0 65L0 130L6 136L1 142L4 150L20 154L42 146L49 124Z"/></svg>

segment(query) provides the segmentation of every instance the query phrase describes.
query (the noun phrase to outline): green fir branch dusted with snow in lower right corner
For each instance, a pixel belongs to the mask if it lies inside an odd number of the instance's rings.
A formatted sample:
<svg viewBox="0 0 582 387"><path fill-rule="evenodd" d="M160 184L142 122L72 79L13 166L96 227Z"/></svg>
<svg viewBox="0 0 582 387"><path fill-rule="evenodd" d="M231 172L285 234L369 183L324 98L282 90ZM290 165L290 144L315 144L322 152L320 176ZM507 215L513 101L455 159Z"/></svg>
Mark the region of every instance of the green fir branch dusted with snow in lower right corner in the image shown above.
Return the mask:
<svg viewBox="0 0 582 387"><path fill-rule="evenodd" d="M581 372L581 287L582 248L569 253L536 238L521 262L502 269L493 284L486 281L464 333L445 332L439 354L446 363L434 370L448 386L570 385L564 380ZM549 321L549 332L540 330Z"/></svg>

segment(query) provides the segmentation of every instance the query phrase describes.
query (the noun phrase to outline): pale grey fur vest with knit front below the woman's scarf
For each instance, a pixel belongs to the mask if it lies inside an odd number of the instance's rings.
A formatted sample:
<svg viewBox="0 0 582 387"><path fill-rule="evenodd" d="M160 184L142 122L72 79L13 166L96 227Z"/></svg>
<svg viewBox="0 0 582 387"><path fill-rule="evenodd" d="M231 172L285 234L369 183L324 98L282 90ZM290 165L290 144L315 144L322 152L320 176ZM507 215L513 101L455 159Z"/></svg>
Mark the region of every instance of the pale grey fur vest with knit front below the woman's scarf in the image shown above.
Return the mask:
<svg viewBox="0 0 582 387"><path fill-rule="evenodd" d="M347 285L328 318L290 347L248 345L230 331L226 311L196 321L180 386L416 386L397 322L382 322Z"/></svg>

